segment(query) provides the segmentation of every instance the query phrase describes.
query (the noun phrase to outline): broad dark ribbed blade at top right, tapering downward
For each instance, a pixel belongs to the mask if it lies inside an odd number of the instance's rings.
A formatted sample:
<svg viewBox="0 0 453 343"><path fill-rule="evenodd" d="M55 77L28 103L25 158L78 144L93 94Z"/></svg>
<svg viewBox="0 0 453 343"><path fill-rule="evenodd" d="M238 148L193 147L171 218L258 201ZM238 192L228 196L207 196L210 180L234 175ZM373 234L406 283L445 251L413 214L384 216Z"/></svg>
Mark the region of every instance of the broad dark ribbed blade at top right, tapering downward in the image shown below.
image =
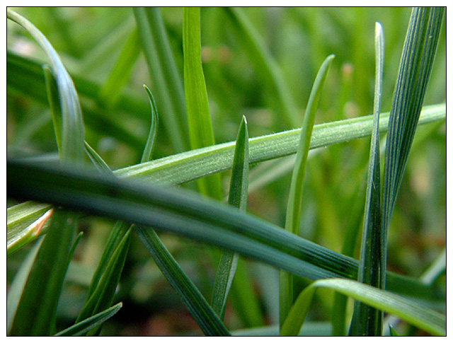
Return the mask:
<svg viewBox="0 0 453 343"><path fill-rule="evenodd" d="M419 122L444 12L445 8L413 8L403 46L390 110L389 134L386 139L382 190L382 230L384 231L382 246L385 261L391 214Z"/></svg>

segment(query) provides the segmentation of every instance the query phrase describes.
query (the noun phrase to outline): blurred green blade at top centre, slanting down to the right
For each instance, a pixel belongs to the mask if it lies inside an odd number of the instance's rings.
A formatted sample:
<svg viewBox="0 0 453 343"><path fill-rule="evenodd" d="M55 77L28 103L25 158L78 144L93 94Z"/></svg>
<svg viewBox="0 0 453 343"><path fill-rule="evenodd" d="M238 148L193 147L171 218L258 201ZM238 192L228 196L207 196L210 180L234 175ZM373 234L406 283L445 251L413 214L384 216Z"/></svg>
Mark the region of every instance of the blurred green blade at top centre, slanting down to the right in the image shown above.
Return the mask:
<svg viewBox="0 0 453 343"><path fill-rule="evenodd" d="M285 124L289 127L299 127L299 110L287 88L282 71L265 46L263 38L241 8L225 7L224 10L234 23L241 41L244 42L243 47L251 63L254 64L258 74L263 76L262 81L267 86L270 97L275 99L276 112L282 112Z"/></svg>

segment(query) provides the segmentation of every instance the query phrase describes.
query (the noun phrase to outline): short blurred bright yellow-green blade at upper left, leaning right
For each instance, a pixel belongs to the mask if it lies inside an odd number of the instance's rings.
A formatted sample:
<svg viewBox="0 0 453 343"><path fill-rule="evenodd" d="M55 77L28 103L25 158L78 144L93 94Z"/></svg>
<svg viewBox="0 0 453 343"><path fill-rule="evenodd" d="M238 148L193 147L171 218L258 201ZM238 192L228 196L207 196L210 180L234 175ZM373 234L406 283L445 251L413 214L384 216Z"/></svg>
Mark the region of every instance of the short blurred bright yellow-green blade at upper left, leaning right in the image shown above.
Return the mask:
<svg viewBox="0 0 453 343"><path fill-rule="evenodd" d="M98 100L107 108L113 108L120 99L123 86L129 80L130 74L140 53L140 37L135 28L130 33L125 45L113 64L108 79L99 91Z"/></svg>

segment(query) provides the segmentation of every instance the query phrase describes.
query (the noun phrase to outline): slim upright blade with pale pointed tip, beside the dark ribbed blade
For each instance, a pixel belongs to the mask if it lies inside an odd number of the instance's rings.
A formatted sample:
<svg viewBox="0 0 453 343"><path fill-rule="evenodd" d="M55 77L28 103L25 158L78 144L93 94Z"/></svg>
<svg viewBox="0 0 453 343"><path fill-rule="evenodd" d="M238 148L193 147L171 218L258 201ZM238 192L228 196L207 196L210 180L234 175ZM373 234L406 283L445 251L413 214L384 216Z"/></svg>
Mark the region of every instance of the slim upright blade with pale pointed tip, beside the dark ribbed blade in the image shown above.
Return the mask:
<svg viewBox="0 0 453 343"><path fill-rule="evenodd" d="M381 168L379 153L379 111L381 107L382 73L384 67L384 33L382 26L376 23L376 81L374 85L374 120L367 181L365 217L362 231L362 248L360 250L359 277L357 281L370 286L383 288L382 278L385 273L384 255L381 242ZM383 313L376 308L355 302L354 315L350 325L350 335L381 336Z"/></svg>

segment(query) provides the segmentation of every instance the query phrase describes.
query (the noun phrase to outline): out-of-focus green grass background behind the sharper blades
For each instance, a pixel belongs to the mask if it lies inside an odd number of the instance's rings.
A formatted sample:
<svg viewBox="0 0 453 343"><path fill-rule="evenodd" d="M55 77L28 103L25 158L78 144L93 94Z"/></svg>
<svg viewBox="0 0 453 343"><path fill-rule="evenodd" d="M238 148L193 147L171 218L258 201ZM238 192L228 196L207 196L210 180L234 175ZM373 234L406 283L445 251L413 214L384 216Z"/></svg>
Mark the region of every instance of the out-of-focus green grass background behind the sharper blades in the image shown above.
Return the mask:
<svg viewBox="0 0 453 343"><path fill-rule="evenodd" d="M131 8L13 8L44 33L62 57L81 97L86 122L86 141L110 168L138 163L149 128L150 109L142 85L153 91L142 52L123 71L120 98L105 103L100 89L108 81L122 47L134 30ZM300 112L309 98L316 72L328 54L336 54L319 103L316 123L359 117L372 113L374 87L374 23L382 23L385 35L382 112L390 110L399 59L411 8L243 8L263 38L284 76ZM183 76L182 8L161 8L176 63ZM216 143L236 139L242 115L250 136L292 129L275 111L275 95L269 93L263 72L256 68L229 16L222 8L201 9L202 62L210 100ZM8 21L8 54L39 64L45 56L35 42ZM442 29L425 105L446 101L446 22ZM10 71L11 70L11 71ZM20 79L22 71L7 71L8 154L23 156L56 153L55 136L47 99L33 95L33 84ZM129 74L127 74L129 73ZM24 74L25 75L25 74ZM22 82L14 86L14 81ZM11 81L11 82L10 82ZM25 86L24 86L25 85ZM42 93L45 95L45 88ZM159 110L159 98L156 98ZM175 153L164 129L159 127L154 158ZM361 226L369 139L320 149L309 158L302 204L300 235L341 251L351 226ZM287 158L286 158L287 159ZM278 163L283 164L285 158ZM435 260L446 245L446 125L428 124L418 129L408 161L389 236L389 269L414 277ZM253 165L258 173L261 165ZM284 226L290 171L251 189L248 211ZM228 173L223 173L228 181ZM260 179L258 178L259 181ZM251 180L252 181L252 180ZM191 185L183 185L191 187ZM65 286L59 317L71 325L84 301L93 272L112 222L84 221L84 238ZM215 266L207 252L183 238L161 235L183 269L210 299ZM137 237L133 237L134 240ZM360 237L357 237L360 242ZM360 245L360 244L359 244ZM358 245L357 245L358 246ZM125 306L104 328L104 335L171 335L197 333L197 325L168 285L141 244L134 244L127 257L118 298ZM11 281L27 247L8 257ZM357 258L358 249L355 252ZM277 271L263 264L248 264L267 324L277 322ZM330 319L331 293L319 291L311 320ZM226 323L242 328L231 306Z"/></svg>

